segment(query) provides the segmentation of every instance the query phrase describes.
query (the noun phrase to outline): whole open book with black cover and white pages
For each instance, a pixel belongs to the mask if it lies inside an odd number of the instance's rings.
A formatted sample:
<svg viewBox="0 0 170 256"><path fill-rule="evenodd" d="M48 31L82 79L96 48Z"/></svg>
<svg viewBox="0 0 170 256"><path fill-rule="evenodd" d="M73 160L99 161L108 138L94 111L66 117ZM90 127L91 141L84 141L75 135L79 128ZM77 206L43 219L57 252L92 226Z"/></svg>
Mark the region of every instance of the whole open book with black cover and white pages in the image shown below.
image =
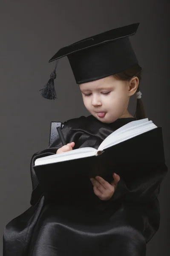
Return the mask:
<svg viewBox="0 0 170 256"><path fill-rule="evenodd" d="M90 177L109 183L113 172L130 183L164 163L162 128L146 119L127 123L110 134L98 149L85 147L37 158L33 166L47 200L61 195L93 196ZM88 192L89 191L89 192Z"/></svg>

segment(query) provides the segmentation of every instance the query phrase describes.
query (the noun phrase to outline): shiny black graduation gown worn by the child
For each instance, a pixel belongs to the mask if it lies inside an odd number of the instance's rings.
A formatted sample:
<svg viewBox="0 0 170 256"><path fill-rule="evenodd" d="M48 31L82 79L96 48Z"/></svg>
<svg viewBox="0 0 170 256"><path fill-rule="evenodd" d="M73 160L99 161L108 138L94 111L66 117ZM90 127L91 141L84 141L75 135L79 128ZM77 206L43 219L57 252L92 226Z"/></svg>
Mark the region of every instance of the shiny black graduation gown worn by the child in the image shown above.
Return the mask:
<svg viewBox="0 0 170 256"><path fill-rule="evenodd" d="M64 122L62 131L67 143L75 142L74 149L97 149L109 134L134 120L122 118L106 124L93 116L81 116ZM33 166L37 158L56 154L61 146L58 138L49 148L32 156L31 207L6 225L3 256L145 256L146 244L159 227L157 197L167 166L158 163L146 166L141 161L132 168L136 172L148 168L147 177L135 179L128 186L121 179L108 201L94 195L94 204L75 202L67 195L58 204L48 203Z"/></svg>

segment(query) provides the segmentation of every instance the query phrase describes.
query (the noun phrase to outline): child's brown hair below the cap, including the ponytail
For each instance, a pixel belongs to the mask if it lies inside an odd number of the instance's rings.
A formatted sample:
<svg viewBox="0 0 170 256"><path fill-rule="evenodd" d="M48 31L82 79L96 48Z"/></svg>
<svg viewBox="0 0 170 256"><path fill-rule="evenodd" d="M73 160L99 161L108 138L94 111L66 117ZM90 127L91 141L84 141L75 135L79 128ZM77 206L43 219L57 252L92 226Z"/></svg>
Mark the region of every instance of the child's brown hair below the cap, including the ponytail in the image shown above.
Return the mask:
<svg viewBox="0 0 170 256"><path fill-rule="evenodd" d="M122 72L119 72L113 76L117 77L118 79L121 80L130 80L133 77L137 76L139 79L139 83L141 81L141 73L143 72L142 68L139 66L139 64L135 64L133 67L128 68L127 70L124 70ZM138 92L139 89L139 84L138 84L138 89L136 92ZM141 99L137 99L137 104L136 104L136 112L135 112L135 119L143 119L146 118L146 114L144 111L144 105Z"/></svg>

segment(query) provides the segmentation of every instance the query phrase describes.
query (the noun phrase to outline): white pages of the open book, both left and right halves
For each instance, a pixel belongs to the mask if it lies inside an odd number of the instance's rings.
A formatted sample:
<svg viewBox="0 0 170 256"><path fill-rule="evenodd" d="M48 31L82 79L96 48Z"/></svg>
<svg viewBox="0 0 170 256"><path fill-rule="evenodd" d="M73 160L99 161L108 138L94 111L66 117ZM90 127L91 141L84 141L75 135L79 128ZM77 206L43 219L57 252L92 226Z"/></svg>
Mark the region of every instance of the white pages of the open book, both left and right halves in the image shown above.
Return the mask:
<svg viewBox="0 0 170 256"><path fill-rule="evenodd" d="M90 157L90 156L98 156L99 154L102 154L106 148L109 148L113 145L121 143L125 140L129 140L130 138L133 138L139 134L150 131L154 128L157 128L157 126L152 121L149 121L148 118L135 120L127 123L126 125L112 132L112 134L110 134L101 143L101 145L98 147L97 150L95 148L90 148L90 147L78 148L78 149L73 149L71 151L67 151L61 154L41 157L35 160L35 166L45 165L49 163L63 162L67 160L73 160L73 159Z"/></svg>

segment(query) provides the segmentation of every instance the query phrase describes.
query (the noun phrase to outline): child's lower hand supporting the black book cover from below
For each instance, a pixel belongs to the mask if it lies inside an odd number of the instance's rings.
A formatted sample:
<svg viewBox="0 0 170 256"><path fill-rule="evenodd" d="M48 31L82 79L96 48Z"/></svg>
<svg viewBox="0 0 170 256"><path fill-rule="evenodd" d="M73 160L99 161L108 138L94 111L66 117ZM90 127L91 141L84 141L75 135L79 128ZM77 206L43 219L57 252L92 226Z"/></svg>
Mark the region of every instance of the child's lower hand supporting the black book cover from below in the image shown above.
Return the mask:
<svg viewBox="0 0 170 256"><path fill-rule="evenodd" d="M96 176L95 179L90 179L93 184L95 195L97 195L101 200L109 200L114 194L118 181L120 180L120 176L114 172L113 178L114 180L111 183L107 182L100 176Z"/></svg>

